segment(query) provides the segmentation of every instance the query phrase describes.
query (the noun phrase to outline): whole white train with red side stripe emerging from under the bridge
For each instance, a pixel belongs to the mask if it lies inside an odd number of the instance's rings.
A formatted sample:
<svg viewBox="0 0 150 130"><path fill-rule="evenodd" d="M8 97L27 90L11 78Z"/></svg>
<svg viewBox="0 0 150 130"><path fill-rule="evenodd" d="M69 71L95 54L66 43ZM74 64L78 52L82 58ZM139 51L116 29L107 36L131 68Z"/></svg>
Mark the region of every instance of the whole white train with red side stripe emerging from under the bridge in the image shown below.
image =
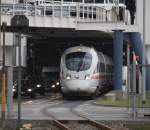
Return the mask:
<svg viewBox="0 0 150 130"><path fill-rule="evenodd" d="M102 94L112 89L112 78L112 60L92 47L71 47L62 55L60 83L65 97Z"/></svg>

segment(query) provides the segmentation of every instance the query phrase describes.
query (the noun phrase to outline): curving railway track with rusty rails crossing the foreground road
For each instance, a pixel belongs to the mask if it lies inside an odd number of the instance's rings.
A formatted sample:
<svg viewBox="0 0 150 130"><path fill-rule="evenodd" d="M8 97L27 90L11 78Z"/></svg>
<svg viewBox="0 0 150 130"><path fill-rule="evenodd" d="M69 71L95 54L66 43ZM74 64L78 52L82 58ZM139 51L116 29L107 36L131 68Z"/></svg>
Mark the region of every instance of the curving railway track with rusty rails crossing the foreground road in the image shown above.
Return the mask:
<svg viewBox="0 0 150 130"><path fill-rule="evenodd" d="M86 103L86 102L84 102L84 103ZM53 125L57 126L58 129L60 129L60 130L117 130L117 129L114 129L103 123L94 121L94 120L86 117L85 115L82 115L81 113L78 113L77 111L75 111L75 109L74 109L75 107L77 107L77 106L72 106L70 108L70 111L73 114L75 114L76 116L83 118L83 120L75 120L75 121L73 121L73 120L57 120L56 117L52 113L48 113L46 111L48 109L48 107L45 108L43 112L45 113L45 115L52 118Z"/></svg>

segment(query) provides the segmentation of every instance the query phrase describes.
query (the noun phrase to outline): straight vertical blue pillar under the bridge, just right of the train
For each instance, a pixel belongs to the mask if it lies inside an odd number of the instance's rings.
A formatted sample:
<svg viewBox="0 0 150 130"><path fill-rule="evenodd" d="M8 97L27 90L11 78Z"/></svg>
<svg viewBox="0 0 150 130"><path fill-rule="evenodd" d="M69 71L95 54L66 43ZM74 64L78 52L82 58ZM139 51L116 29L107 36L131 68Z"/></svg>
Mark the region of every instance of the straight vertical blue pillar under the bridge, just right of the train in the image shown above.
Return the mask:
<svg viewBox="0 0 150 130"><path fill-rule="evenodd" d="M122 90L123 32L114 31L114 90Z"/></svg>

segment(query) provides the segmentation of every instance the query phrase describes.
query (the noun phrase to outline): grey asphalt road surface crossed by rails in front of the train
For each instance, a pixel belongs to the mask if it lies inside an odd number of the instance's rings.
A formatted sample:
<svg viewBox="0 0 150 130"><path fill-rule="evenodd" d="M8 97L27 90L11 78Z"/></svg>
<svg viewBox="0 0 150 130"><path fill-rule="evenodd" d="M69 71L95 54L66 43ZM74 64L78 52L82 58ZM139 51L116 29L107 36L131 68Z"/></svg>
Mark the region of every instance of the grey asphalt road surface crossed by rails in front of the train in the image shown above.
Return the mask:
<svg viewBox="0 0 150 130"><path fill-rule="evenodd" d="M64 100L61 96L58 97L47 95L44 97L37 96L36 99L24 98L21 103L21 119L83 120L83 118L72 113L75 111L94 120L150 121L148 117L131 118L128 109L124 107L97 106L94 100ZM17 101L14 100L10 118L17 118L17 108Z"/></svg>

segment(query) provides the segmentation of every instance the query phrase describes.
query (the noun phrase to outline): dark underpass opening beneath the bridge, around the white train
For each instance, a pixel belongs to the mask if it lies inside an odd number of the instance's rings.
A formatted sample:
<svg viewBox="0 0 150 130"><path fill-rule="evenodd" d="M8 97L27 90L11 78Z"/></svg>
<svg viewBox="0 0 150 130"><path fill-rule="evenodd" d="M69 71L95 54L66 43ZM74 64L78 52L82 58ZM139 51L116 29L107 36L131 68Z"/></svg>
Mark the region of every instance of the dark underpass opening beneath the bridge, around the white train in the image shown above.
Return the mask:
<svg viewBox="0 0 150 130"><path fill-rule="evenodd" d="M60 60L63 52L73 46L88 46L113 58L112 38L57 37L46 39L28 38L26 75L54 85L59 81Z"/></svg>

